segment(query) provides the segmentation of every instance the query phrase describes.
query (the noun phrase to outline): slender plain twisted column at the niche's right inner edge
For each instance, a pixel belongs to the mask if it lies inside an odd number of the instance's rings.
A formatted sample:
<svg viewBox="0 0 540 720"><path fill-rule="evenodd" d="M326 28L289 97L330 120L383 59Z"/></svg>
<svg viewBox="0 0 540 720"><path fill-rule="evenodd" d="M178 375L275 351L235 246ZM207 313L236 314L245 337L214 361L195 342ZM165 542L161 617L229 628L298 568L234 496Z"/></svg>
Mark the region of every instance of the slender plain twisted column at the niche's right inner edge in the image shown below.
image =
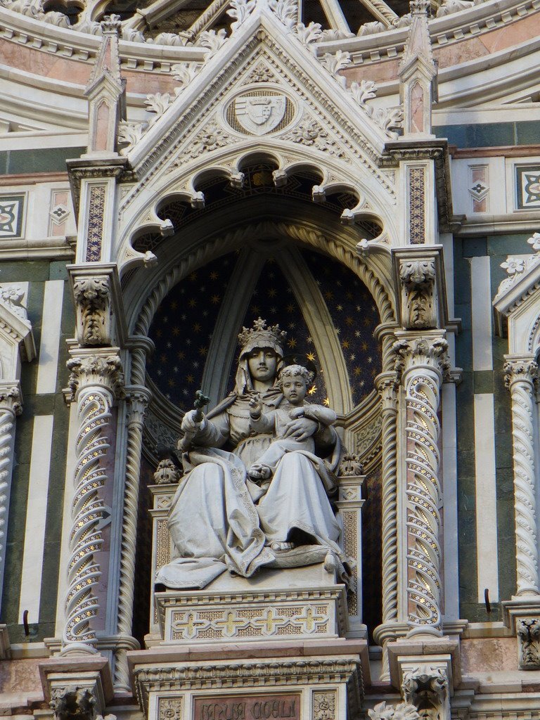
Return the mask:
<svg viewBox="0 0 540 720"><path fill-rule="evenodd" d="M397 374L377 377L382 400L382 622L397 621ZM388 654L382 680L390 680Z"/></svg>

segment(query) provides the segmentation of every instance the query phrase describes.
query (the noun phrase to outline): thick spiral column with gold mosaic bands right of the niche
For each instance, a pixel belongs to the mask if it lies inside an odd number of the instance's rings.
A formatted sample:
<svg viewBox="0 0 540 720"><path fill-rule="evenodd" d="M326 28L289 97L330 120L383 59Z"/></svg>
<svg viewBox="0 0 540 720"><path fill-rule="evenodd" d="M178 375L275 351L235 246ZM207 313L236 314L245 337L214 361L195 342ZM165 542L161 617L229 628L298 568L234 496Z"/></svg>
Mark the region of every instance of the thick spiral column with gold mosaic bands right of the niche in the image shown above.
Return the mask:
<svg viewBox="0 0 540 720"><path fill-rule="evenodd" d="M407 562L410 634L441 634L441 484L438 421L441 382L449 369L442 338L395 343L404 363L407 435Z"/></svg>

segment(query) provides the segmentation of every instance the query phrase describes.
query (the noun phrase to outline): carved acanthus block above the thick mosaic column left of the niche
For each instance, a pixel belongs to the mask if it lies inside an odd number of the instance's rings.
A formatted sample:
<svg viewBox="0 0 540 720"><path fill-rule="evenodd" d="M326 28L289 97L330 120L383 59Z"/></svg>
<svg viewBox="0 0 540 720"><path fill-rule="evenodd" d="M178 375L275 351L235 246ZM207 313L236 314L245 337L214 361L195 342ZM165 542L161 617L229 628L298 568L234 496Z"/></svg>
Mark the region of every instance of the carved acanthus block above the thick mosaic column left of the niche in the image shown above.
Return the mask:
<svg viewBox="0 0 540 720"><path fill-rule="evenodd" d="M108 276L78 277L73 282L78 341L82 346L110 344L111 293Z"/></svg>

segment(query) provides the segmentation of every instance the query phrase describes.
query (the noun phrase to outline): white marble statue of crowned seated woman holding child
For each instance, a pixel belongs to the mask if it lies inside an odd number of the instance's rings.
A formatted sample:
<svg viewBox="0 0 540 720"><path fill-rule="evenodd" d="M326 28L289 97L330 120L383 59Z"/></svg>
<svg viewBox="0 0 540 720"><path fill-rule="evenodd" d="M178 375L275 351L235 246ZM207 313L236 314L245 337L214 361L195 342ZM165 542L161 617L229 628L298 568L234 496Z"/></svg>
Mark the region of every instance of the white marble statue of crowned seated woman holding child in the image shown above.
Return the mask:
<svg viewBox="0 0 540 720"><path fill-rule="evenodd" d="M156 575L167 588L201 589L226 570L251 577L328 553L346 579L328 499L341 452L336 414L305 403L312 376L283 366L285 337L261 318L243 328L233 393L202 420L184 415L192 441L168 516L173 559Z"/></svg>

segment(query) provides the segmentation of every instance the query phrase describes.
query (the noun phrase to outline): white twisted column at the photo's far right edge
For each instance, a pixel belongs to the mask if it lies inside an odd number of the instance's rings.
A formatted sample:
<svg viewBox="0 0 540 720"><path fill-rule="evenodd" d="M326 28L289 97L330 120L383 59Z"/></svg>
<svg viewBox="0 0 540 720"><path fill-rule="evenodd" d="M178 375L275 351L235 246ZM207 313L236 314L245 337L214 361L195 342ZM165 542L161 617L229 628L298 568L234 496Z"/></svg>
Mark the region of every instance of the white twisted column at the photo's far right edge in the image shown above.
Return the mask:
<svg viewBox="0 0 540 720"><path fill-rule="evenodd" d="M536 544L536 494L534 467L534 380L538 366L533 360L505 363L505 381L512 403L514 503L516 508L516 595L540 593Z"/></svg>

